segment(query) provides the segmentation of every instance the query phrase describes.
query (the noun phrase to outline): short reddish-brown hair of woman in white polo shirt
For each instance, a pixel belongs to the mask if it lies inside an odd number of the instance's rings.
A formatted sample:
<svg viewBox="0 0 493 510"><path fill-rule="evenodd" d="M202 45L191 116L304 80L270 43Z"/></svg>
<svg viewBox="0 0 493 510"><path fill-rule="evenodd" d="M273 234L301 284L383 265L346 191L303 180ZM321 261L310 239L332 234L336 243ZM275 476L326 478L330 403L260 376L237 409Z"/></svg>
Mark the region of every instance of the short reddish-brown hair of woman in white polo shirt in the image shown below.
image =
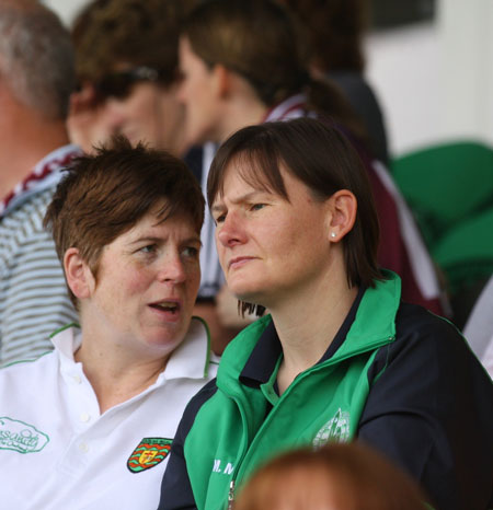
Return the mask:
<svg viewBox="0 0 493 510"><path fill-rule="evenodd" d="M117 137L111 148L78 158L67 169L44 225L51 229L61 263L66 251L77 247L96 277L103 247L156 207L160 221L183 216L200 232L205 200L185 163ZM77 305L70 289L69 294Z"/></svg>

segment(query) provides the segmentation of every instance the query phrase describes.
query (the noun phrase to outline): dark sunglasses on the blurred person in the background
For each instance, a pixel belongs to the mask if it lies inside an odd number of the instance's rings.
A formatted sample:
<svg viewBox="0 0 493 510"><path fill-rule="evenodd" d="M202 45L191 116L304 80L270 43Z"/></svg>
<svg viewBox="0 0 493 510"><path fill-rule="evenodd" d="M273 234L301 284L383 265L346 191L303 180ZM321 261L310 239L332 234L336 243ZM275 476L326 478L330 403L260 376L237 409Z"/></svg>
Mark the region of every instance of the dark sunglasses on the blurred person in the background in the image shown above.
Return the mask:
<svg viewBox="0 0 493 510"><path fill-rule="evenodd" d="M103 76L93 86L100 101L106 97L125 100L130 95L135 83L141 81L158 82L163 72L146 66L135 67L124 71L115 71Z"/></svg>

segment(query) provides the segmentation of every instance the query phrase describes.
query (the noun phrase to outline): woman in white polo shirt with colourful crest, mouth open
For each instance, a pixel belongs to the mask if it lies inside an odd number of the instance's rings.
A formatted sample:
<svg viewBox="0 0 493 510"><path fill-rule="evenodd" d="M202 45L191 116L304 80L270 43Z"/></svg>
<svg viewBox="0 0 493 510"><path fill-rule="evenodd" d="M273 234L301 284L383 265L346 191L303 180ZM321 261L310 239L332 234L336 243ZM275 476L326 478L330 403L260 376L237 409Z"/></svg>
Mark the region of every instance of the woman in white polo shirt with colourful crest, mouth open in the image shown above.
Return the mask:
<svg viewBox="0 0 493 510"><path fill-rule="evenodd" d="M1 508L158 506L177 421L216 373L192 318L203 218L198 184L168 153L122 139L71 166L45 224L80 327L0 371Z"/></svg>

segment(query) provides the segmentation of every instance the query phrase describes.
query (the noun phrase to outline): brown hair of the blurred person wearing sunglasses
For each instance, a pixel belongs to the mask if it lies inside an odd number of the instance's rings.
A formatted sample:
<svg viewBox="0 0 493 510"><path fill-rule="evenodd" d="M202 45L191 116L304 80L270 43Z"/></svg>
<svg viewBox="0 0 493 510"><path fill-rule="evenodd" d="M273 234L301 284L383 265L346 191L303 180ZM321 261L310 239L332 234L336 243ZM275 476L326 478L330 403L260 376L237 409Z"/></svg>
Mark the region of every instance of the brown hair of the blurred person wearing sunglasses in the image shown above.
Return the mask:
<svg viewBox="0 0 493 510"><path fill-rule="evenodd" d="M160 82L177 78L180 22L194 0L93 0L72 26L79 81L95 82L116 65L160 71Z"/></svg>

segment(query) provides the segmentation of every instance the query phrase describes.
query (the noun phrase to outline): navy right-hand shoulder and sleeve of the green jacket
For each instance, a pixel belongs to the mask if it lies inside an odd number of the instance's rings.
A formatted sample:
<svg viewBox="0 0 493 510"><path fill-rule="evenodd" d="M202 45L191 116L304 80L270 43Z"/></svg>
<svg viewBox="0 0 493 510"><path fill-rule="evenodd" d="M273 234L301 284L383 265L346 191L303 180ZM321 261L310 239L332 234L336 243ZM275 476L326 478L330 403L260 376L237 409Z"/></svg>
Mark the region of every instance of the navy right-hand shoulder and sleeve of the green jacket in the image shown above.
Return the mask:
<svg viewBox="0 0 493 510"><path fill-rule="evenodd" d="M435 508L484 509L493 478L493 384L448 321L403 303L368 371L358 436L410 473Z"/></svg>

